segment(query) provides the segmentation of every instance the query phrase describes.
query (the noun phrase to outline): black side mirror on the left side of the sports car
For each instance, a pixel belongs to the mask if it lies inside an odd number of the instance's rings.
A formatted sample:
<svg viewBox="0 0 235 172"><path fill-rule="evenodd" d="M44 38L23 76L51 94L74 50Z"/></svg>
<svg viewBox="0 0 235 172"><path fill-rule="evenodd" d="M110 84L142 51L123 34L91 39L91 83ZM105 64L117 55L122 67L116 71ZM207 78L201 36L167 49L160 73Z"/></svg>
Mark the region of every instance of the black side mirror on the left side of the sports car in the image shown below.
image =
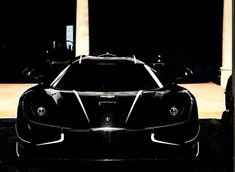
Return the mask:
<svg viewBox="0 0 235 172"><path fill-rule="evenodd" d="M43 74L38 73L34 68L25 68L22 71L23 77L30 82L43 82L45 76Z"/></svg>

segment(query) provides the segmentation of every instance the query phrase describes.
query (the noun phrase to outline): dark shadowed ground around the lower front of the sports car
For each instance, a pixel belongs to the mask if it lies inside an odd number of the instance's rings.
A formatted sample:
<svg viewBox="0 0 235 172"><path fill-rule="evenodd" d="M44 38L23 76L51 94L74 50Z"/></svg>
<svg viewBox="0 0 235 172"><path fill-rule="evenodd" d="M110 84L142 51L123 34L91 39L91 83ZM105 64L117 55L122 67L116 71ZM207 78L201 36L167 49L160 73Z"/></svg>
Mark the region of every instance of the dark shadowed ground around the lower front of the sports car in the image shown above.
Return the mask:
<svg viewBox="0 0 235 172"><path fill-rule="evenodd" d="M0 171L192 171L233 172L233 129L224 128L218 119L200 119L200 154L191 164L187 162L30 162L18 164L15 154L15 119L0 120ZM184 168L186 167L187 168ZM26 168L27 167L27 168Z"/></svg>

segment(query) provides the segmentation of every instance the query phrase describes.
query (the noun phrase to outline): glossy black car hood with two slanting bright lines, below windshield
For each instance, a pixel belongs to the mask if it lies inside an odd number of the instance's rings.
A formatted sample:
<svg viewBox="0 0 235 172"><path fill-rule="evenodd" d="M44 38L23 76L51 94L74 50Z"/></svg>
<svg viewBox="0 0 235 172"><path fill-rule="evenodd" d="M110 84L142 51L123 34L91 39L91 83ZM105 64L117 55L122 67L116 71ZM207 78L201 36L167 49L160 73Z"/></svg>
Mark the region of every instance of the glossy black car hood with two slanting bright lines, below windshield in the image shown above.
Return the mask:
<svg viewBox="0 0 235 172"><path fill-rule="evenodd" d="M144 128L160 125L171 105L170 90L79 92L45 89L57 104L57 121L70 128ZM165 119L166 120L166 119ZM153 122L154 121L154 122ZM154 123L154 124L153 124Z"/></svg>

